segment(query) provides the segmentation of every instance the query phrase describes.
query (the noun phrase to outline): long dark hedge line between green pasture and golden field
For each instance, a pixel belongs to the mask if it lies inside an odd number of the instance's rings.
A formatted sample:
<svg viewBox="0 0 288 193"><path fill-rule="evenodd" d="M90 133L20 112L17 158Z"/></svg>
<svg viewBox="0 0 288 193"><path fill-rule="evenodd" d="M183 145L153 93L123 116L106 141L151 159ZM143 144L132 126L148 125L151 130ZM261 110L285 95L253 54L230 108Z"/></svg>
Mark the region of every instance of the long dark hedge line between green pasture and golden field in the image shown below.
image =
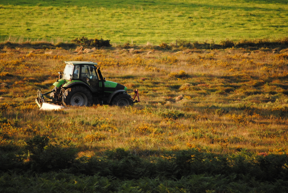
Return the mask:
<svg viewBox="0 0 288 193"><path fill-rule="evenodd" d="M87 37L82 36L82 38L75 38L74 40L71 40L71 42L75 43L63 43L59 42L56 44L50 43L50 42L22 42L22 43L16 43L16 42L3 42L0 43L0 49L3 49L5 47L7 48L34 48L34 49L57 49L57 48L63 48L66 50L69 50L71 48L76 48L77 44L80 44L84 47L111 47L110 40L103 40L101 39L88 39ZM126 42L124 44L120 44L117 47L129 49L129 48L139 48L139 49L155 49L155 50L183 50L184 48L191 48L191 49L223 49L223 48L250 48L252 50L255 49L278 49L278 48L288 48L288 38L282 38L278 40L266 40L266 39L254 39L254 40L247 40L243 39L238 42L233 40L221 40L219 44L216 44L213 40L211 42L190 42L187 40L177 40L177 47L175 44L171 43L171 46L169 46L166 43L161 43L159 46L153 46L152 44L146 45L146 46L137 46L137 45L131 45L129 42Z"/></svg>

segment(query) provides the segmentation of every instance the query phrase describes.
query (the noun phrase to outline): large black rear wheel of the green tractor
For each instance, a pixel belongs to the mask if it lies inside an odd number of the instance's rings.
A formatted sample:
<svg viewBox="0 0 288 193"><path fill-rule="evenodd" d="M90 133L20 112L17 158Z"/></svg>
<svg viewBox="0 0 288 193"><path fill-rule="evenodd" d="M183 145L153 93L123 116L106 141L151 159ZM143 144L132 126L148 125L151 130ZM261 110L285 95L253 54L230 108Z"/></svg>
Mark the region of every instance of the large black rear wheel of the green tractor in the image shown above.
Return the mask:
<svg viewBox="0 0 288 193"><path fill-rule="evenodd" d="M83 86L71 87L64 91L62 103L64 106L91 106L92 93Z"/></svg>

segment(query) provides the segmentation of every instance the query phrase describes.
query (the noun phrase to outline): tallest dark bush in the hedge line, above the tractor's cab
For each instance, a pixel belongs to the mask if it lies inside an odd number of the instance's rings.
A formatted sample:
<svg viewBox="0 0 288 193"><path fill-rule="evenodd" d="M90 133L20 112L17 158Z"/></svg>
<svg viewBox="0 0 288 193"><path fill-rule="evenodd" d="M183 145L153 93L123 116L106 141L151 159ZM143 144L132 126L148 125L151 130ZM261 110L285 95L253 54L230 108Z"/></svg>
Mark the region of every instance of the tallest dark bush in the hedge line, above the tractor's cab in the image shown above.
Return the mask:
<svg viewBox="0 0 288 193"><path fill-rule="evenodd" d="M98 47L98 48L101 48L103 46L111 47L110 40L103 40L103 38L98 40L97 38L88 39L87 37L82 36L82 38L79 38L79 39L75 38L74 40L72 40L72 42L75 42L77 44L80 44L86 47Z"/></svg>

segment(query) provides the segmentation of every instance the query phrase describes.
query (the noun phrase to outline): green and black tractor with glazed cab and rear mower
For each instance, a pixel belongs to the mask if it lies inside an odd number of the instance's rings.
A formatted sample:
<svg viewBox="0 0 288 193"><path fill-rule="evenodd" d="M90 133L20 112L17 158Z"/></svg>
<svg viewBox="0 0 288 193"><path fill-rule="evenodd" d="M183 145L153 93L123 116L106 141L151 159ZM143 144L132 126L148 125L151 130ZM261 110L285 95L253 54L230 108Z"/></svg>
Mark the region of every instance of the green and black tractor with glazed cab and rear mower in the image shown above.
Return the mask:
<svg viewBox="0 0 288 193"><path fill-rule="evenodd" d="M129 106L140 102L138 89L129 92L134 93L134 98L132 98L125 86L105 80L97 63L81 61L66 61L65 63L64 71L59 72L59 78L53 84L54 89L47 93L37 91L35 101L41 110L93 104ZM138 100L135 100L136 96ZM46 102L44 98L50 101Z"/></svg>

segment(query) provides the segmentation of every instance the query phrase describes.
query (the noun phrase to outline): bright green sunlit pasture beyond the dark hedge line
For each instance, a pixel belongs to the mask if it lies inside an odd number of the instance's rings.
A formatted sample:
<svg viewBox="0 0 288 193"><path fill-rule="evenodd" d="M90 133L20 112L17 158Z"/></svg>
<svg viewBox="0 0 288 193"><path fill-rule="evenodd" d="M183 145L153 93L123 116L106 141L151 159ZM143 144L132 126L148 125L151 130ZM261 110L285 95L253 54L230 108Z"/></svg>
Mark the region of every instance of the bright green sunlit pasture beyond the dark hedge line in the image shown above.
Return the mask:
<svg viewBox="0 0 288 193"><path fill-rule="evenodd" d="M0 4L0 41L70 41L76 37L127 41L219 42L282 38L288 32L288 1L20 1Z"/></svg>

